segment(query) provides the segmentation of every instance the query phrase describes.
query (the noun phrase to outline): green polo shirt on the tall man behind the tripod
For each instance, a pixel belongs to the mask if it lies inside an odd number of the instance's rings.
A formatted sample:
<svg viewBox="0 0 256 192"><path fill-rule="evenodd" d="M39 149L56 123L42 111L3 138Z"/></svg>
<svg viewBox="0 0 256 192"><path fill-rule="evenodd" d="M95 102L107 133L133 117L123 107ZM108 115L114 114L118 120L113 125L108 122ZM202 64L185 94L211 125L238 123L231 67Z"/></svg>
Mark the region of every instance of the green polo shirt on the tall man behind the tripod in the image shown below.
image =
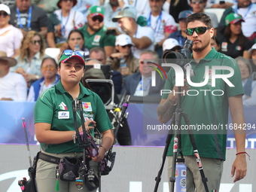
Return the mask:
<svg viewBox="0 0 256 192"><path fill-rule="evenodd" d="M214 48L201 59L199 63L193 59L190 62L194 69L195 76L191 77L194 83L200 83L205 80L205 66L209 66L209 81L203 87L190 86L190 95L181 96L181 108L187 114L190 125L215 125L218 130L206 130L199 134L194 130L197 149L201 157L219 158L225 160L227 130L225 125L228 120L228 97L243 94L242 78L239 66L230 56L217 52ZM234 70L234 75L228 80L234 85L230 87L221 78L216 79L215 87L212 87L212 66L229 66ZM229 74L228 70L215 70L215 74ZM175 71L170 69L168 80L166 80L165 90L172 90L175 85ZM207 90L207 91L202 91ZM222 90L223 92L221 92ZM222 96L214 96L221 95ZM167 99L168 94L163 94L162 98ZM181 124L184 123L182 119ZM223 129L221 129L221 126ZM201 134L202 133L202 134ZM171 144L173 143L173 139ZM184 155L193 155L194 151L190 143L187 130L181 130L181 149ZM173 145L169 145L167 155L172 156Z"/></svg>

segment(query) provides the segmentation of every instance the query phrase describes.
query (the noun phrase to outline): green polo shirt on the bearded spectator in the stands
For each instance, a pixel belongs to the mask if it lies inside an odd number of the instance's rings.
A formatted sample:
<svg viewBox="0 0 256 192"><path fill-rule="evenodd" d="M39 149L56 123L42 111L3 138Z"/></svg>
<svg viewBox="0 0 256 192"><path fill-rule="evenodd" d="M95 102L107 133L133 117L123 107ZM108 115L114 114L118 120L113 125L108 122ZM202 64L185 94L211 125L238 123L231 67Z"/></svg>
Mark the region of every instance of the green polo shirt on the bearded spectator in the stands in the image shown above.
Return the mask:
<svg viewBox="0 0 256 192"><path fill-rule="evenodd" d="M93 35L90 35L89 32L87 32L87 25L82 26L78 30L80 30L83 33L84 46L87 47L87 49L89 50L93 47L114 47L115 36L105 35L105 31L103 28L99 29L99 31L95 32Z"/></svg>

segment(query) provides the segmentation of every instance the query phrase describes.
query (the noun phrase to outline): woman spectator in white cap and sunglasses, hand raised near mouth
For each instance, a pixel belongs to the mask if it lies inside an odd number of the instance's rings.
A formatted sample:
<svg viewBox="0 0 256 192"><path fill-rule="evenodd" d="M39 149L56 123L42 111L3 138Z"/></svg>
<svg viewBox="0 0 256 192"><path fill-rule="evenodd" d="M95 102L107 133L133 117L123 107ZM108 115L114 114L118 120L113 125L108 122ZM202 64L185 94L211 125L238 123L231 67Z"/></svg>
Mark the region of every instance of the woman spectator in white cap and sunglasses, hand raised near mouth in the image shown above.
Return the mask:
<svg viewBox="0 0 256 192"><path fill-rule="evenodd" d="M123 78L138 72L139 69L139 59L133 56L132 47L133 42L129 35L118 35L115 40L116 53L107 58L107 65L120 72Z"/></svg>

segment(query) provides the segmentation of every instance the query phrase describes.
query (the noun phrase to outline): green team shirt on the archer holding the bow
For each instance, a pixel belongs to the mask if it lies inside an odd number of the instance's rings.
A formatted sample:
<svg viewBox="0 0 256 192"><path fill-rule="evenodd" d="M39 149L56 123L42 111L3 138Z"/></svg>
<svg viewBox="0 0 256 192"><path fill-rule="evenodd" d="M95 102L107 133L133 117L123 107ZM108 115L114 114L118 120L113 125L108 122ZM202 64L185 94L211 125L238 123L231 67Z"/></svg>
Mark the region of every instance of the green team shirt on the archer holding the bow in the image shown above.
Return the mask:
<svg viewBox="0 0 256 192"><path fill-rule="evenodd" d="M81 83L78 99L83 102L84 120L95 120L100 133L112 128L102 99ZM72 102L72 96L64 90L59 81L55 86L41 93L35 103L35 123L49 123L50 130L75 131ZM76 117L79 127L81 126L79 111ZM74 144L73 140L61 144L41 143L41 148L53 154L83 151L83 148L78 148L78 142Z"/></svg>

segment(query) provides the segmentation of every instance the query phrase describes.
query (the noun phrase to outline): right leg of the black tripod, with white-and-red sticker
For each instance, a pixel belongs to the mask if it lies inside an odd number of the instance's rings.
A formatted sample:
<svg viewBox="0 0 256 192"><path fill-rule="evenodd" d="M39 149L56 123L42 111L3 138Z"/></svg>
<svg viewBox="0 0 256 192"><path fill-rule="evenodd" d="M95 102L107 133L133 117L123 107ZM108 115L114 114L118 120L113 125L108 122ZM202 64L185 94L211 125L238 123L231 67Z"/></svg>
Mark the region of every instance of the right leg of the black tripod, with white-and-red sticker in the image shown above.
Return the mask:
<svg viewBox="0 0 256 192"><path fill-rule="evenodd" d="M187 117L187 114L182 113L182 117L184 117L185 123L189 126L190 122L189 122L189 119ZM207 186L207 183L206 183L208 181L208 179L206 178L206 176L203 172L203 166L202 166L202 163L201 163L201 160L200 160L199 153L197 151L197 145L196 145L196 141L194 139L194 134L193 134L192 130L189 130L189 129L187 130L187 133L189 134L189 139L190 139L191 145L193 147L194 156L196 157L196 160L197 160L197 166L198 166L198 169L200 170L200 175L201 175L201 178L202 178L202 181L203 181L203 185L206 189L206 192L209 192L209 189L208 189L208 186Z"/></svg>

